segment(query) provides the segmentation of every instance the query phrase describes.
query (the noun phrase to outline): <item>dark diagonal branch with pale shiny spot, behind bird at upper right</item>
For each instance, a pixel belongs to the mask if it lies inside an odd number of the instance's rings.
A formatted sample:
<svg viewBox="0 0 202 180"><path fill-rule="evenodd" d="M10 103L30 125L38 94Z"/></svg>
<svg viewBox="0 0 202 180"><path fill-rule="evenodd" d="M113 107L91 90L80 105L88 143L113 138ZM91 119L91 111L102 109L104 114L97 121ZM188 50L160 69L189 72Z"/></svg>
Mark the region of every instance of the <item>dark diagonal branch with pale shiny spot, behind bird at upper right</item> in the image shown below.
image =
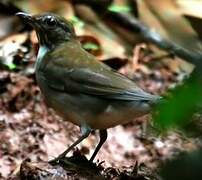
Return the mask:
<svg viewBox="0 0 202 180"><path fill-rule="evenodd" d="M140 22L137 18L120 12L107 13L107 18L119 23L119 25L140 35L148 42L151 42L159 48L172 52L174 55L185 59L186 61L200 67L202 70L202 54L198 52L190 52L189 50L179 46L178 44L163 38L157 31L154 31Z"/></svg>

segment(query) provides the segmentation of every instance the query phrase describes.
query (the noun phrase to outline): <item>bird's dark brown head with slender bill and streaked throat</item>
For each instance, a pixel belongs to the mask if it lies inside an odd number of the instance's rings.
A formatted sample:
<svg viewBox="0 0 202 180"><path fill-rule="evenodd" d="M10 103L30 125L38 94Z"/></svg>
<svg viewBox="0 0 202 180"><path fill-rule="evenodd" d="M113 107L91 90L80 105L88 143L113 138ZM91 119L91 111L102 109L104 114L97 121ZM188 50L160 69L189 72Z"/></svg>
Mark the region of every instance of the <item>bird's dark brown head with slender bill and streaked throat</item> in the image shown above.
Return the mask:
<svg viewBox="0 0 202 180"><path fill-rule="evenodd" d="M59 43L76 37L73 25L65 18L56 14L44 13L31 16L19 12L16 15L35 29L41 46L51 49Z"/></svg>

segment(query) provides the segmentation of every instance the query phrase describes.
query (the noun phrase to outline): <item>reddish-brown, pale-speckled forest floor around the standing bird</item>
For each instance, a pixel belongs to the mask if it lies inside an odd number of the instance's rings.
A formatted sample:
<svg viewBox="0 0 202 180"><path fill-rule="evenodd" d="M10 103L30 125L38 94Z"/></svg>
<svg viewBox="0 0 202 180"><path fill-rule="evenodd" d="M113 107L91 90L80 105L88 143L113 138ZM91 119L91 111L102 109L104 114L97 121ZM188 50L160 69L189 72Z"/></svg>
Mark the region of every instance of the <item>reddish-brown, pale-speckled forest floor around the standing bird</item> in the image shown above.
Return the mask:
<svg viewBox="0 0 202 180"><path fill-rule="evenodd" d="M15 176L22 162L40 163L56 157L80 135L77 126L63 121L45 105L35 80L35 52L30 41L33 40L27 33L21 33L0 42L0 54L7 64L9 60L17 64L0 68L1 179ZM148 92L164 94L186 75L179 70L179 59L168 63L162 57L156 63L148 61L150 55L138 55L134 55L132 64L127 62L119 71ZM138 63L134 66L135 59ZM150 67L151 64L154 66ZM197 138L186 137L183 132L172 130L162 136L153 128L151 115L147 115L109 129L108 139L95 160L97 164L102 162L100 173L108 179L130 173L143 179L157 179L156 172L166 160L200 144ZM98 140L95 132L77 146L75 156L80 152L89 158Z"/></svg>

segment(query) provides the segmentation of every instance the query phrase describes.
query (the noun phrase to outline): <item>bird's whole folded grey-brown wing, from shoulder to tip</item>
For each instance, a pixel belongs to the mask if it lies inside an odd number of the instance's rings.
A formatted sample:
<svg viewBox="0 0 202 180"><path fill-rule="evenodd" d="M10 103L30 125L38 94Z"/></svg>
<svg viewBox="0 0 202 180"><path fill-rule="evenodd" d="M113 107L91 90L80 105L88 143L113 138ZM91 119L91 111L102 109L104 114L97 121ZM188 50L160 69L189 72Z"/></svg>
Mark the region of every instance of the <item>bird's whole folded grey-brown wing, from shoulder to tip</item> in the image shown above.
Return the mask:
<svg viewBox="0 0 202 180"><path fill-rule="evenodd" d="M47 84L68 93L83 93L102 98L126 101L152 101L157 96L146 93L131 80L114 71L92 71L88 68L46 68Z"/></svg>

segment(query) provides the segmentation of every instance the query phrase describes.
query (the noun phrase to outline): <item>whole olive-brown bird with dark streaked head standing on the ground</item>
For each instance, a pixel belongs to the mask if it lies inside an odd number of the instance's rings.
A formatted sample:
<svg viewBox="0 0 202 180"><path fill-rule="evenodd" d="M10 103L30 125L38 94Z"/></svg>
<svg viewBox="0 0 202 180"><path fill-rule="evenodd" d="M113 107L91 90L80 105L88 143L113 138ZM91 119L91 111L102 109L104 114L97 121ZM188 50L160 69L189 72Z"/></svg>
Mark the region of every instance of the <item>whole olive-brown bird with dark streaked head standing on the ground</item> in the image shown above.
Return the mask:
<svg viewBox="0 0 202 180"><path fill-rule="evenodd" d="M35 73L46 104L81 129L81 136L50 162L59 163L98 130L100 140L89 159L93 162L107 139L107 129L149 113L161 99L84 50L72 23L62 16L49 12L16 16L36 31Z"/></svg>

